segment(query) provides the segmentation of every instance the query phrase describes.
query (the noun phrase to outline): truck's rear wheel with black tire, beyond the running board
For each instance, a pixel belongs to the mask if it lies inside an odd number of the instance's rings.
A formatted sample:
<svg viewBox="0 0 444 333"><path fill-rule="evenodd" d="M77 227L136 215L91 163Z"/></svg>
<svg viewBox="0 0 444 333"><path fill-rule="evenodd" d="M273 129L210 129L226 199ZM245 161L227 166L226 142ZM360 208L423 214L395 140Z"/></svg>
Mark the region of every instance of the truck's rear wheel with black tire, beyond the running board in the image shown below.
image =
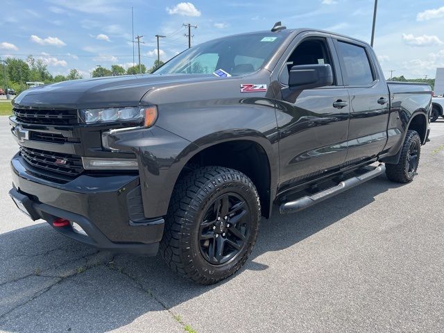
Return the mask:
<svg viewBox="0 0 444 333"><path fill-rule="evenodd" d="M411 149L416 147L416 160L412 160ZM401 147L401 156L398 164L386 164L387 178L393 182L406 183L413 180L418 169L421 151L421 139L416 130L407 130L404 144Z"/></svg>

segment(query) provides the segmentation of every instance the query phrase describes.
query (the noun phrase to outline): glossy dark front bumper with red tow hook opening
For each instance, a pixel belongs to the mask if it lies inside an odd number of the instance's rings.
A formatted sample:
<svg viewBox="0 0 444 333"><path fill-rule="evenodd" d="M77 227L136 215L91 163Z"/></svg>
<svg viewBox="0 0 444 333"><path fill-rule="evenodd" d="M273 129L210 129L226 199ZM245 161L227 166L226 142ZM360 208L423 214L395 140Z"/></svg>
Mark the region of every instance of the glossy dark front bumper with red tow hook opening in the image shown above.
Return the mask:
<svg viewBox="0 0 444 333"><path fill-rule="evenodd" d="M54 228L96 248L156 255L164 220L144 217L138 176L81 175L60 185L33 176L19 154L12 158L11 167L10 196L23 203L31 219L44 219L50 225L59 218L75 222L87 236L71 225Z"/></svg>

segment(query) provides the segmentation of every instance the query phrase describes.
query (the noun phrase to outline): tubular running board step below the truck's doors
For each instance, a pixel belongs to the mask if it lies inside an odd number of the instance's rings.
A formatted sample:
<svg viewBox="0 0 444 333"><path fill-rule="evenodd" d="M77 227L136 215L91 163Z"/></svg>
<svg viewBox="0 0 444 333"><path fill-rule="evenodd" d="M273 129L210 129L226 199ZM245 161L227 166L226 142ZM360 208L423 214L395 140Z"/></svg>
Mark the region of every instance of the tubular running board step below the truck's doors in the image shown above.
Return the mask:
<svg viewBox="0 0 444 333"><path fill-rule="evenodd" d="M355 187L363 182L366 182L370 179L373 179L379 175L382 175L386 171L386 167L384 164L379 164L372 171L368 171L367 173L362 174L361 176L356 176L349 178L348 180L343 180L338 185L334 187L330 187L330 189L325 189L324 191L313 194L312 196L302 196L302 198L298 198L297 200L288 201L287 203L282 203L280 205L280 214L289 214L296 213L300 210L304 210L307 207L314 205L315 203L320 203L321 201L331 198L332 196L336 196L336 194L340 194L343 191L347 191L352 187Z"/></svg>

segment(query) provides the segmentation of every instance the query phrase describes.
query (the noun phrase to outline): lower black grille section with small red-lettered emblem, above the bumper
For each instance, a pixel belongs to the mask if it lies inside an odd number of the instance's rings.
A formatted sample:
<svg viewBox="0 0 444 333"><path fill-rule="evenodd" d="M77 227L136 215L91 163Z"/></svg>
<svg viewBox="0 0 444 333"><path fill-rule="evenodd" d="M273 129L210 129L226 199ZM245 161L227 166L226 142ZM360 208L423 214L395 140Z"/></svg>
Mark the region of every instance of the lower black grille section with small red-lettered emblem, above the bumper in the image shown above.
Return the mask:
<svg viewBox="0 0 444 333"><path fill-rule="evenodd" d="M83 164L80 156L64 153L41 151L40 149L20 147L20 153L24 160L31 166L49 173L59 173L69 178L74 178L83 172Z"/></svg>

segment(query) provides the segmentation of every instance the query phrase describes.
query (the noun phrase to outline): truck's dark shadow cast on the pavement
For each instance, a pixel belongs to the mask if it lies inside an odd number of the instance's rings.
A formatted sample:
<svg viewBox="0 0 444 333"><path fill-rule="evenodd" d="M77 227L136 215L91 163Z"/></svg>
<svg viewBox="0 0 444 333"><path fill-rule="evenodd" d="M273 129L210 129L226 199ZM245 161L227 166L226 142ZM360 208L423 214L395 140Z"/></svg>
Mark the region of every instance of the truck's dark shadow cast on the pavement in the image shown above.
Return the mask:
<svg viewBox="0 0 444 333"><path fill-rule="evenodd" d="M255 249L241 271L213 286L179 278L160 256L97 252L63 237L46 223L1 234L0 330L108 332L140 316L147 316L150 323L159 321L159 311L180 327L174 310L169 311L172 307L234 280L237 288L251 283L242 271L266 274L268 268L255 258L298 246L373 203L378 194L399 186L379 176L298 214L280 216L275 207L273 217L262 220ZM149 330L157 332L155 324ZM164 332L169 329L165 327Z"/></svg>

